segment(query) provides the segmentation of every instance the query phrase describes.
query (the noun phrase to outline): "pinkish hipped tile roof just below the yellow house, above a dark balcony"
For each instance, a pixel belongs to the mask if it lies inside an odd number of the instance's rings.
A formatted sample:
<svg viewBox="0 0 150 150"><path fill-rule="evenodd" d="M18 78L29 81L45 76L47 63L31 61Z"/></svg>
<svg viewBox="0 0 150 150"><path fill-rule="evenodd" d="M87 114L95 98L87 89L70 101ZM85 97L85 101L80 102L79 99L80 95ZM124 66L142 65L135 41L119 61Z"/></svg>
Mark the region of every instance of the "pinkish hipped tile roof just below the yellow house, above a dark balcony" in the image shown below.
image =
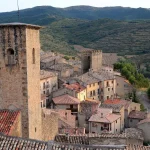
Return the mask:
<svg viewBox="0 0 150 150"><path fill-rule="evenodd" d="M53 98L53 102L55 104L73 105L73 104L79 104L80 100L66 94L66 95L62 95L62 96L58 96L58 97Z"/></svg>

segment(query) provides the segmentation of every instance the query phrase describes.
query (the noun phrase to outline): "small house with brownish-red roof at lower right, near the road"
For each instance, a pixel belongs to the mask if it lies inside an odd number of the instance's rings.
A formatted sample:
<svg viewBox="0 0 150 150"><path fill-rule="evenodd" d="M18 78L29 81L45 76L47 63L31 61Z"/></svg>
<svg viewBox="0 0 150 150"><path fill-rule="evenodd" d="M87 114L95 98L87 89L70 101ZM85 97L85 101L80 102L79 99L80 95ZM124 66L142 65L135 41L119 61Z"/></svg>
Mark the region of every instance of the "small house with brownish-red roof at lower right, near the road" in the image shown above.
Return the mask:
<svg viewBox="0 0 150 150"><path fill-rule="evenodd" d="M128 116L128 121L129 121L129 127L130 128L135 128L137 127L137 124L141 121L147 118L147 112L142 112L142 111L137 111L137 110L132 110L129 113Z"/></svg>

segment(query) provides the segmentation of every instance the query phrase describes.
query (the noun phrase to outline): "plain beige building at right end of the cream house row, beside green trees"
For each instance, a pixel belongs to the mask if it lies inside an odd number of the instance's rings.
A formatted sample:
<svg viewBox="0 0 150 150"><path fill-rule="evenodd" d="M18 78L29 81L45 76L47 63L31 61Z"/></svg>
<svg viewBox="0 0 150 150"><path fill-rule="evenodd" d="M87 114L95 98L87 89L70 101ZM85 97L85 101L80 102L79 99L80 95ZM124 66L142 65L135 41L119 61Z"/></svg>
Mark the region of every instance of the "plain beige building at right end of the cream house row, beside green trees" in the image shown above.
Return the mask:
<svg viewBox="0 0 150 150"><path fill-rule="evenodd" d="M131 83L121 75L115 75L116 78L116 94L120 98L128 98L129 94L133 92Z"/></svg>

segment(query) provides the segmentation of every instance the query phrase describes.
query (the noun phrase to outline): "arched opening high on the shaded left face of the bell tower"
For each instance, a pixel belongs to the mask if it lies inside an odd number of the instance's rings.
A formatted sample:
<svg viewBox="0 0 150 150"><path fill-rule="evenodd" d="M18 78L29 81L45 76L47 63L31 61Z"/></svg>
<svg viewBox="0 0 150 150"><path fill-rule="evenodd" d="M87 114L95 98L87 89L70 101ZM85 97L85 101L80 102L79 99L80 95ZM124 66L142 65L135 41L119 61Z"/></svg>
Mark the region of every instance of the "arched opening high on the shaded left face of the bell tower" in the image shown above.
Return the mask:
<svg viewBox="0 0 150 150"><path fill-rule="evenodd" d="M8 63L8 65L14 65L15 64L15 52L11 48L9 48L7 50L7 63Z"/></svg>

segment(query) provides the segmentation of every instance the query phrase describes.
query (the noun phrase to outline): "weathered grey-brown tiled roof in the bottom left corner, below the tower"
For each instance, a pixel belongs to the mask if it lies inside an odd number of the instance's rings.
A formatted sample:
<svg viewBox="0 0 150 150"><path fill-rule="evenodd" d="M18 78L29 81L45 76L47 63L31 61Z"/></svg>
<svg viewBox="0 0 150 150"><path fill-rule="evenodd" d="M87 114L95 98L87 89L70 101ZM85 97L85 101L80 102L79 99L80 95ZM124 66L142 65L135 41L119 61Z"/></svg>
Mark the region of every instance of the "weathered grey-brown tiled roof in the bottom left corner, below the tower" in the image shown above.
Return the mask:
<svg viewBox="0 0 150 150"><path fill-rule="evenodd" d="M0 135L0 150L47 150L46 142Z"/></svg>

